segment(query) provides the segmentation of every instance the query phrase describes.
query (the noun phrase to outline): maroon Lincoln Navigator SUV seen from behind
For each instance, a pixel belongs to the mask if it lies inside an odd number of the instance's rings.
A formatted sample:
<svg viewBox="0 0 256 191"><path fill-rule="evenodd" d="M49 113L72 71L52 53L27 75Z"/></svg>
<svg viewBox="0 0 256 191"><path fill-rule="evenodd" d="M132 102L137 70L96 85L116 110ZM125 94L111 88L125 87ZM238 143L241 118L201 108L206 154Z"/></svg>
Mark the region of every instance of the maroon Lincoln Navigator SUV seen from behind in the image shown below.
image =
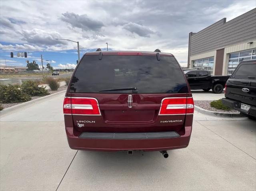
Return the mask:
<svg viewBox="0 0 256 191"><path fill-rule="evenodd" d="M194 102L174 56L96 51L78 63L63 104L75 150L160 151L186 148Z"/></svg>

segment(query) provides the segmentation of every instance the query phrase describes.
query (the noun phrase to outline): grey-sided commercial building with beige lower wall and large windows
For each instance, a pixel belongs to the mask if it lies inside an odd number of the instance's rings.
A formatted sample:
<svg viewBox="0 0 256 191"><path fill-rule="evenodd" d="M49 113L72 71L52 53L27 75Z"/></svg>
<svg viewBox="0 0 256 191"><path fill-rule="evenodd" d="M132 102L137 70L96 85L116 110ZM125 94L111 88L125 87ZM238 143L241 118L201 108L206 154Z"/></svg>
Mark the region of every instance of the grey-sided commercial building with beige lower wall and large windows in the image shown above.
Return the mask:
<svg viewBox="0 0 256 191"><path fill-rule="evenodd" d="M188 68L231 75L242 60L256 59L256 8L189 33Z"/></svg>

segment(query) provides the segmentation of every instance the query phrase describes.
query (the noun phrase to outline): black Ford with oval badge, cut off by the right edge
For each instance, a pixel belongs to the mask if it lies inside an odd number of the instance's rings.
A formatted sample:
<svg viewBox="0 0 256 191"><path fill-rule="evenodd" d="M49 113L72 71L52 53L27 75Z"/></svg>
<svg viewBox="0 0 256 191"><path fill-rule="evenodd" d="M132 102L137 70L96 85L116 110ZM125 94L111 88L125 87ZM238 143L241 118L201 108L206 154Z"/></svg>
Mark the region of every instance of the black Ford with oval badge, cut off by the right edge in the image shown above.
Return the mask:
<svg viewBox="0 0 256 191"><path fill-rule="evenodd" d="M249 118L256 117L256 60L242 61L226 83L222 103Z"/></svg>

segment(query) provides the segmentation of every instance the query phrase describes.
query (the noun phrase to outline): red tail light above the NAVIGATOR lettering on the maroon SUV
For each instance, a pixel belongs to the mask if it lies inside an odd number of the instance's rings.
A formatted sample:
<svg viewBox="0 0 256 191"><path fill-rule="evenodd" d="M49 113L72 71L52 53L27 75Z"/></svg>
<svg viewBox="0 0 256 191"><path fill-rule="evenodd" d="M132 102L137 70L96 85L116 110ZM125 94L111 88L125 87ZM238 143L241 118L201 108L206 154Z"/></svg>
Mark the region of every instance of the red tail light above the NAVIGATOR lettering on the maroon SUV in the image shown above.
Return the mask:
<svg viewBox="0 0 256 191"><path fill-rule="evenodd" d="M188 98L164 98L159 115L185 115L194 113L194 100Z"/></svg>

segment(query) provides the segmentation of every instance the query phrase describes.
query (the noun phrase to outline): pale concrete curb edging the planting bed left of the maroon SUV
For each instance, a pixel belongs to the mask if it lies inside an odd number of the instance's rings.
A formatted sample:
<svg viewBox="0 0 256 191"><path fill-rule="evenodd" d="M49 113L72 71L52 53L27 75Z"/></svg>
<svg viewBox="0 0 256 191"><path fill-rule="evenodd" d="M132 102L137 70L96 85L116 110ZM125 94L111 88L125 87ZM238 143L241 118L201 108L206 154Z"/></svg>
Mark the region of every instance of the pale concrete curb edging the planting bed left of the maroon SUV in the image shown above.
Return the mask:
<svg viewBox="0 0 256 191"><path fill-rule="evenodd" d="M30 100L30 101L27 101L27 102L23 102L23 103L20 103L20 104L17 104L17 105L14 105L14 106L5 108L5 109L3 109L2 111L0 111L0 115L7 114L7 113L9 113L9 112L12 112L13 110L16 110L16 109L25 107L25 106L27 106L27 105L29 105L29 104L36 103L36 102L41 101L41 100L45 100L45 99L47 99L47 98L50 98L50 97L52 97L52 96L61 94L61 93L63 93L63 92L66 92L66 90L59 91L59 92L57 92L57 93L53 93L53 94L50 94L50 95L47 95L47 96L43 96L43 97L40 97L40 98L37 98L37 99L34 99L34 100Z"/></svg>

